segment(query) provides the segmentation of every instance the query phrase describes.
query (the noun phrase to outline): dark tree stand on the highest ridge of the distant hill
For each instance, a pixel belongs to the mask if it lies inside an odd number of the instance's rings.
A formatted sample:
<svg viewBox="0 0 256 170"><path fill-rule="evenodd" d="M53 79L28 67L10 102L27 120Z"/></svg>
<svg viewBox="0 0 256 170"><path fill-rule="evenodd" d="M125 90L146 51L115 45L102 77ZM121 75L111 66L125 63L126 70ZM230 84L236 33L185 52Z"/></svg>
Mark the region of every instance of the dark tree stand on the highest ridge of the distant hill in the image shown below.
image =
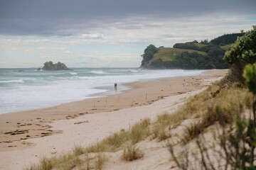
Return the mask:
<svg viewBox="0 0 256 170"><path fill-rule="evenodd" d="M244 35L244 33L233 33L233 34L225 34L221 35L218 38L214 38L213 40L210 40L211 43L214 45L227 45L234 43L238 37L241 37Z"/></svg>

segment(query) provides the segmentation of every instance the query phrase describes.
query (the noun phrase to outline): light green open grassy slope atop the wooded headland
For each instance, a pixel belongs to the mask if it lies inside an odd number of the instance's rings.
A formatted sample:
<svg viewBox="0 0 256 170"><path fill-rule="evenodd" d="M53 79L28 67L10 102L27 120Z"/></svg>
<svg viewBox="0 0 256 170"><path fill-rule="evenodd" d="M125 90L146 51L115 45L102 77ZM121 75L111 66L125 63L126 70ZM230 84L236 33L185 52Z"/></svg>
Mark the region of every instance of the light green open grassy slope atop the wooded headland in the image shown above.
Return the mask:
<svg viewBox="0 0 256 170"><path fill-rule="evenodd" d="M161 58L163 61L174 60L176 55L181 54L182 52L198 52L201 55L206 55L206 52L201 52L197 50L186 50L172 47L163 47L159 48L159 51L153 57L153 60L158 60Z"/></svg>

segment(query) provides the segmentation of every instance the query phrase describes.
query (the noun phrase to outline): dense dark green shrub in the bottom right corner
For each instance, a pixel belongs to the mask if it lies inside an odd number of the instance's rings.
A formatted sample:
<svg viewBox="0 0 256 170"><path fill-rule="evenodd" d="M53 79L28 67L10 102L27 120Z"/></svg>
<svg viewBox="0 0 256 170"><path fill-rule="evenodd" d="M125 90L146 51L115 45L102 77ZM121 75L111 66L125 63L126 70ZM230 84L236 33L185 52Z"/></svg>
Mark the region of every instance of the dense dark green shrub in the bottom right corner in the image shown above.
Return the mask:
<svg viewBox="0 0 256 170"><path fill-rule="evenodd" d="M256 169L255 146L256 128L255 120L238 120L235 132L225 134L220 138L220 146L224 150L226 166L232 169Z"/></svg>

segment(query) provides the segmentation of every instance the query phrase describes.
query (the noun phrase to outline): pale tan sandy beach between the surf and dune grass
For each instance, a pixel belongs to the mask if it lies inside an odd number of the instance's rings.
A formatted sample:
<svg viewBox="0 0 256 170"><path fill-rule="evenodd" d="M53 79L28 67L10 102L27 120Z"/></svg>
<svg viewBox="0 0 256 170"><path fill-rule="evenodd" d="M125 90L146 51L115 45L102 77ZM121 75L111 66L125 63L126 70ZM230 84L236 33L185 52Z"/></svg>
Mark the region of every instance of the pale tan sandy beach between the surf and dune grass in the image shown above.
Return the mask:
<svg viewBox="0 0 256 170"><path fill-rule="evenodd" d="M65 103L50 108L0 115L0 169L23 169L43 156L90 145L143 118L174 111L182 98L205 89L228 70L200 76L126 84L121 94Z"/></svg>

